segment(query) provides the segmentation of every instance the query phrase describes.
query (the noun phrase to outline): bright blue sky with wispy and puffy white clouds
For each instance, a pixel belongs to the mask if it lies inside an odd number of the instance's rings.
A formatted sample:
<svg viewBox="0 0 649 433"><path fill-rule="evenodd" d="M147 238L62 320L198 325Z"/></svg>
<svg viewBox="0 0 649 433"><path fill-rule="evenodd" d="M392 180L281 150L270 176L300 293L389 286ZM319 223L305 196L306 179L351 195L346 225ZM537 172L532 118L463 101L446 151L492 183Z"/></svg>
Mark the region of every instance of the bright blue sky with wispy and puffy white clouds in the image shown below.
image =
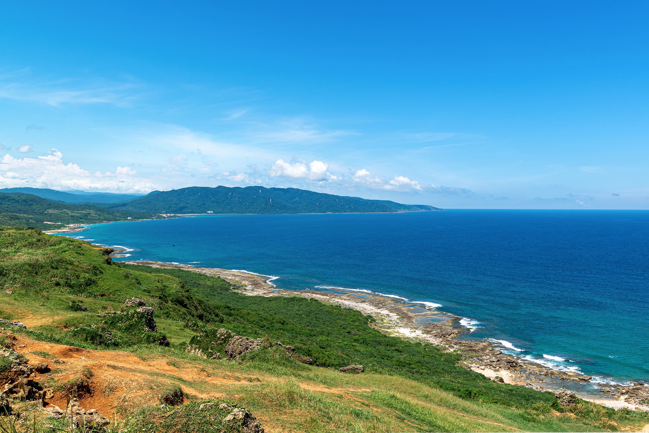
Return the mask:
<svg viewBox="0 0 649 433"><path fill-rule="evenodd" d="M0 187L649 208L649 3L3 5Z"/></svg>

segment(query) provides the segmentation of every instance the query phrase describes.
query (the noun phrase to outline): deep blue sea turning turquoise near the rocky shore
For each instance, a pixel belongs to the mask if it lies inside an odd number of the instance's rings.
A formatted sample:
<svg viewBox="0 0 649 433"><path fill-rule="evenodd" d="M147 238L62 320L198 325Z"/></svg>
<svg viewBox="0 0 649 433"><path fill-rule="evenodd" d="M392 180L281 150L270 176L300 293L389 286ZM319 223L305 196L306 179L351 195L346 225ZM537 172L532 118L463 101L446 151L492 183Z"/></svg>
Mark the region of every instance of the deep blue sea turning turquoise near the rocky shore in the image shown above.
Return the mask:
<svg viewBox="0 0 649 433"><path fill-rule="evenodd" d="M649 380L649 211L205 215L73 236L130 260L275 275L281 288L435 303L520 357Z"/></svg>

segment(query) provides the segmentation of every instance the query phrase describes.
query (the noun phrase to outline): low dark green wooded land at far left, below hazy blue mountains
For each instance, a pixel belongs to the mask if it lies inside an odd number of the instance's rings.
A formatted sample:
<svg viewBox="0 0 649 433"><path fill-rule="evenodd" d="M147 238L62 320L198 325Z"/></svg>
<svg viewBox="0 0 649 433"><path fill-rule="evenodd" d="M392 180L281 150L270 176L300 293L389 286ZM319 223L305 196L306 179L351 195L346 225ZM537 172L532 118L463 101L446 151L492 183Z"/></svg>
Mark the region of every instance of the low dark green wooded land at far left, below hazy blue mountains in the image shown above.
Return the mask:
<svg viewBox="0 0 649 433"><path fill-rule="evenodd" d="M0 193L0 225L57 229L62 224L150 218L151 213L104 209L96 205L53 202L23 193ZM55 222L58 224L44 224Z"/></svg>

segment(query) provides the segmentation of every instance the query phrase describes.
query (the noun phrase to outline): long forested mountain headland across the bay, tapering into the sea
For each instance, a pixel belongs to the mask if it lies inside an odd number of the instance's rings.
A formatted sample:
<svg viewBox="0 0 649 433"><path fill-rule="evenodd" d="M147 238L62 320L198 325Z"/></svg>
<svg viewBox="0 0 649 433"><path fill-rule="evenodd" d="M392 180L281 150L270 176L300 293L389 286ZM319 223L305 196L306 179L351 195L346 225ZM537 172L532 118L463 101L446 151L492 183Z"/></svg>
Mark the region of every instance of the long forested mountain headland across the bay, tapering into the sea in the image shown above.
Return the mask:
<svg viewBox="0 0 649 433"><path fill-rule="evenodd" d="M149 194L110 209L156 213L366 213L441 210L297 188L189 187Z"/></svg>

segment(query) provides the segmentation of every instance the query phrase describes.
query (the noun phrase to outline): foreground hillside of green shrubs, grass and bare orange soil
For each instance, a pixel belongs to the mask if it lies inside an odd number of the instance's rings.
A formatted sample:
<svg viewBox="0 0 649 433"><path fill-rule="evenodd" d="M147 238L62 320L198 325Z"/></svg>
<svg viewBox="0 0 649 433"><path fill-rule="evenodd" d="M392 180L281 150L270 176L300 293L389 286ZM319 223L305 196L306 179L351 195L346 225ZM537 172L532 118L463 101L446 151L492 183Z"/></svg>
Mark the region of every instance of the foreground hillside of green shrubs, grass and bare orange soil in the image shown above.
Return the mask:
<svg viewBox="0 0 649 433"><path fill-rule="evenodd" d="M243 431L205 427L204 412L220 414L221 406L203 403L224 397L266 431L613 431L649 422L643 413L583 401L560 408L552 393L458 366L460 354L386 336L356 310L246 296L219 277L119 264L107 253L34 229L0 228L0 318L27 325L4 325L0 346L31 362L63 360L36 375L52 390L47 399L65 406L72 395L106 416L115 411L112 431ZM153 316L123 305L129 298L145 301ZM238 360L202 357L217 350L210 343L217 329L268 344ZM338 372L350 364L365 373ZM159 408L165 396L186 404L180 412ZM52 425L42 415L38 423Z"/></svg>

